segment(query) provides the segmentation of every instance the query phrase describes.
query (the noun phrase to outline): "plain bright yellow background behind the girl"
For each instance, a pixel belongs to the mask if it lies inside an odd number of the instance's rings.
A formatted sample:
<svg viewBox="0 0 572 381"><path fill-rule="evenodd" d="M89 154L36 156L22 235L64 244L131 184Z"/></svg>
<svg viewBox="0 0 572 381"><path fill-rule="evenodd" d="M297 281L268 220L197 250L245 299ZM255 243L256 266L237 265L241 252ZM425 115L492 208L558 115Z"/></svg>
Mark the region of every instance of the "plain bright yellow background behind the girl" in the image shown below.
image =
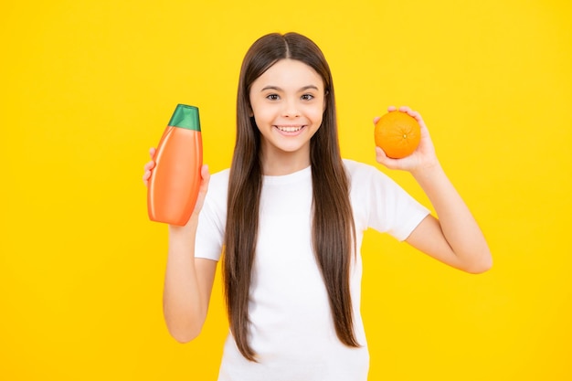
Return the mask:
<svg viewBox="0 0 572 381"><path fill-rule="evenodd" d="M344 156L375 164L372 118L421 111L493 250L472 276L367 233L370 379L572 379L570 19L564 0L3 2L0 379L216 379L220 285L176 344L143 164L182 102L227 167L240 61L291 30L333 69Z"/></svg>

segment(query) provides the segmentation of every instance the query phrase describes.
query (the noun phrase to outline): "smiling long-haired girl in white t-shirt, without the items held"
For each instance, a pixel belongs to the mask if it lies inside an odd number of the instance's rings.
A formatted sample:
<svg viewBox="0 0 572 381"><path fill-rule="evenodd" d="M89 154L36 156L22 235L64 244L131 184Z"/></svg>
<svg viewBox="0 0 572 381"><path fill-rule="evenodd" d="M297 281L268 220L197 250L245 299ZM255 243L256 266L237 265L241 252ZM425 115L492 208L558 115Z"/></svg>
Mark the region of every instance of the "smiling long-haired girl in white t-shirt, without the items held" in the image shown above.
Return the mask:
<svg viewBox="0 0 572 381"><path fill-rule="evenodd" d="M232 164L212 178L203 167L192 217L169 227L164 282L165 322L188 342L205 322L224 253L230 332L220 381L367 379L359 305L367 228L460 270L491 267L421 116L408 107L388 111L416 118L421 142L398 160L376 147L376 161L411 173L439 219L374 167L341 158L332 75L310 39L270 34L249 48ZM145 165L145 182L153 167Z"/></svg>

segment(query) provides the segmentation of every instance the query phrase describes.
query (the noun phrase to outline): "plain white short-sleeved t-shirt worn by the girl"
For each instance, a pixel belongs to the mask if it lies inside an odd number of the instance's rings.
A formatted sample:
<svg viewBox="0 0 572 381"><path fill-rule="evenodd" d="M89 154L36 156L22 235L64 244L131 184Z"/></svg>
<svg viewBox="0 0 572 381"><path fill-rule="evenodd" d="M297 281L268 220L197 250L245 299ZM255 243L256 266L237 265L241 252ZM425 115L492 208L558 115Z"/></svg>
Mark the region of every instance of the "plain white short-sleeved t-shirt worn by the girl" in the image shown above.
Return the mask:
<svg viewBox="0 0 572 381"><path fill-rule="evenodd" d="M263 176L260 230L249 295L249 344L258 362L245 359L232 334L224 348L219 381L365 381L369 355L360 314L364 231L374 228L398 240L429 214L375 167L344 160L351 177L358 255L352 264L355 336L342 344L334 329L327 291L312 252L312 169ZM211 176L196 234L196 257L218 260L227 218L228 170Z"/></svg>

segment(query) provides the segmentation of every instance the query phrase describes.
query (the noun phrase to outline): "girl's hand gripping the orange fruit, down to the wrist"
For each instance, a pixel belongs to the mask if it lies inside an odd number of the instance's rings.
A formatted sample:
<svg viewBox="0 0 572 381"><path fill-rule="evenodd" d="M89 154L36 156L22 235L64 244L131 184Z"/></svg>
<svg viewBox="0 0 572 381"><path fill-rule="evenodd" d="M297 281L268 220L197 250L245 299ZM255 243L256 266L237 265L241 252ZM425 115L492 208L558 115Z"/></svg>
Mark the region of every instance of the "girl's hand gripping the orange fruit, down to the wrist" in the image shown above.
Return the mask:
<svg viewBox="0 0 572 381"><path fill-rule="evenodd" d="M408 106L401 106L398 110L395 106L389 106L387 111L407 112L408 115L415 118L421 127L421 140L417 149L413 153L401 159L392 159L387 157L386 153L380 147L376 147L377 163L385 165L389 169L398 169L408 172L416 172L423 170L423 168L428 168L430 166L439 164L435 154L435 148L429 136L429 130L427 129L427 126L425 125L425 122L423 122L423 118L421 118L421 115L418 113L418 111L413 111ZM374 118L374 124L376 124L379 119L380 117L378 116Z"/></svg>

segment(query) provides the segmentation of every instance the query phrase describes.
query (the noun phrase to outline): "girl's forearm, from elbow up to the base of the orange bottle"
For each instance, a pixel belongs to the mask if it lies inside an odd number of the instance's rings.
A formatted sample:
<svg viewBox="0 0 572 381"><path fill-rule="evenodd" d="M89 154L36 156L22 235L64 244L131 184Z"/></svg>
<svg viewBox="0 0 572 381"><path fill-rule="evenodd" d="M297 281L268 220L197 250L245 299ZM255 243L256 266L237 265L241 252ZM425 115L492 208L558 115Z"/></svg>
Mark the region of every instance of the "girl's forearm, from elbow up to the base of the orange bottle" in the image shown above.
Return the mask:
<svg viewBox="0 0 572 381"><path fill-rule="evenodd" d="M194 339L207 316L195 266L196 224L169 227L169 249L164 278L164 320L177 341Z"/></svg>

